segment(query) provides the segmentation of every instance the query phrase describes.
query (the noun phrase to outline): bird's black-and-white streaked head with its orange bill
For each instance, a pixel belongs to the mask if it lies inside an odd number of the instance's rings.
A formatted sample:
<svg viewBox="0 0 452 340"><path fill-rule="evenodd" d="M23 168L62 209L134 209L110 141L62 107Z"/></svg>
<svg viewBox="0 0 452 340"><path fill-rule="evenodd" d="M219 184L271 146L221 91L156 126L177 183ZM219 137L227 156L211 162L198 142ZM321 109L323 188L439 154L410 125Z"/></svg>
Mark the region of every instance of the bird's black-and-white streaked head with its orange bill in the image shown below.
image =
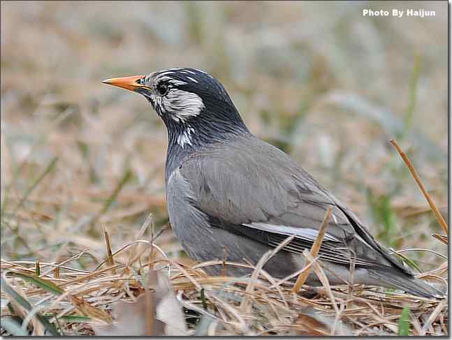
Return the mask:
<svg viewBox="0 0 452 340"><path fill-rule="evenodd" d="M168 68L148 75L103 80L145 96L168 128L170 142L182 147L247 132L223 85L194 68Z"/></svg>

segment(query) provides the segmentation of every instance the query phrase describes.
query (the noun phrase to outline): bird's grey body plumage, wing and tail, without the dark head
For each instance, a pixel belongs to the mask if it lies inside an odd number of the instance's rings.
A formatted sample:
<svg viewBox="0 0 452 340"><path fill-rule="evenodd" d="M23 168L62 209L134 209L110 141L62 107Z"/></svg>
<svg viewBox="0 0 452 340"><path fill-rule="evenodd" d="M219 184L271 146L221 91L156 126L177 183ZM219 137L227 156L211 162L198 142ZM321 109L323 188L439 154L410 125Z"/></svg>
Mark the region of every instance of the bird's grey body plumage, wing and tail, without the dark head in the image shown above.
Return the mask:
<svg viewBox="0 0 452 340"><path fill-rule="evenodd" d="M243 152L244 142L256 152ZM323 266L330 271L326 272L330 283L349 281L355 254L355 283L400 288L421 296L439 295L414 279L403 263L379 246L356 215L292 158L253 135L231 138L227 147L212 145L182 159L171 171L166 190L175 234L195 260L221 259L225 250L228 260L257 263L266 251L295 234L299 236L264 267L279 278L289 276L303 267L302 250L310 249L316 237L307 237L303 231L317 230L326 209L333 207L319 251ZM262 228L261 223L272 228ZM293 232L283 226L292 227ZM210 272L219 274L221 266ZM228 274L249 271L229 267ZM307 283L319 281L312 274Z"/></svg>

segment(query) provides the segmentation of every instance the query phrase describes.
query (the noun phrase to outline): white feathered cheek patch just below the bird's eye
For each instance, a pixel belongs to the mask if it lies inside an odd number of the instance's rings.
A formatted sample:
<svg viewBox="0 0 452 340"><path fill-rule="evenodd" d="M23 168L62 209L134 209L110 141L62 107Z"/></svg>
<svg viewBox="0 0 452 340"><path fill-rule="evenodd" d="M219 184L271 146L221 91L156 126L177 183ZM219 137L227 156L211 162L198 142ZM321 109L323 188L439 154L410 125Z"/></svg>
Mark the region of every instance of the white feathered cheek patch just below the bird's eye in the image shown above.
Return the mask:
<svg viewBox="0 0 452 340"><path fill-rule="evenodd" d="M168 112L175 121L186 121L189 117L196 117L204 109L200 96L180 89L170 89L166 96L159 98L159 102L156 101L162 112Z"/></svg>

